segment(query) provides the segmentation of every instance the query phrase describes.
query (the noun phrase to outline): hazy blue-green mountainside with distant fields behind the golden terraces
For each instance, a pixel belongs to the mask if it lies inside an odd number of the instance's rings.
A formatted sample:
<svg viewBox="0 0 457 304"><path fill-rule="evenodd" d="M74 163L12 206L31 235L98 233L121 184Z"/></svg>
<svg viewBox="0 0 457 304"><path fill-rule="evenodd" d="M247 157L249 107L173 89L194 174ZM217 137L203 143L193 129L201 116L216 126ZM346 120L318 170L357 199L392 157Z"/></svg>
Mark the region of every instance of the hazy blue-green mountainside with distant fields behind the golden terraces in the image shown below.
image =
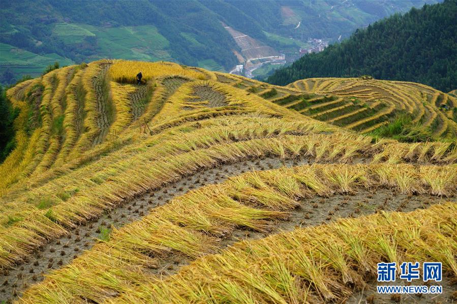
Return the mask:
<svg viewBox="0 0 457 304"><path fill-rule="evenodd" d="M99 58L167 60L229 71L240 48L223 23L277 51L346 37L395 12L437 0L3 1L0 82L48 64ZM292 39L291 39L292 38Z"/></svg>

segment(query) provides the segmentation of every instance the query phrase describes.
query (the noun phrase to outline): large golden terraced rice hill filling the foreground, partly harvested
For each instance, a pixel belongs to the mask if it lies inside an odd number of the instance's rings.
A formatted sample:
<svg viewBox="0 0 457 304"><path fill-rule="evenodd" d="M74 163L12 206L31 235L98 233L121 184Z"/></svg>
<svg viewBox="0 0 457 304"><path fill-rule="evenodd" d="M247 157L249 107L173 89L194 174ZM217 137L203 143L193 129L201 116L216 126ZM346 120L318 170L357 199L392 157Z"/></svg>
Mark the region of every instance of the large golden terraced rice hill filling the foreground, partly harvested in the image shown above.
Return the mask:
<svg viewBox="0 0 457 304"><path fill-rule="evenodd" d="M457 147L375 141L353 130L382 121L352 113L397 109L400 93L320 87L100 60L10 89L0 299L389 302L373 291L378 262L438 261L445 292L403 300L452 301ZM444 97L426 90L434 125Z"/></svg>

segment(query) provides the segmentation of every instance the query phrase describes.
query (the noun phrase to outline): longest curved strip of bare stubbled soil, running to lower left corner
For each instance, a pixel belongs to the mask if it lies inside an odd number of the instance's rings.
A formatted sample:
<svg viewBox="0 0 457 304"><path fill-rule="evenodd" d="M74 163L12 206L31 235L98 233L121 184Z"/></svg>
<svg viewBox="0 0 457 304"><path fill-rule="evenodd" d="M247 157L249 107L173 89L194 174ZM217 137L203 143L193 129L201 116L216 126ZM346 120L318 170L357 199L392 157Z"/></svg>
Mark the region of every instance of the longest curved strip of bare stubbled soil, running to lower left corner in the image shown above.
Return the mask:
<svg viewBox="0 0 457 304"><path fill-rule="evenodd" d="M304 160L306 161L306 160ZM74 227L69 234L51 240L41 246L33 255L20 261L7 271L0 272L3 282L9 283L0 288L10 300L20 296L32 284L40 282L43 276L56 268L61 268L79 256L82 251L91 249L100 238L106 238L112 227L119 228L135 220L140 220L157 206L168 204L170 199L190 190L198 189L208 183L220 183L230 176L251 170L265 170L282 165L291 165L295 160L281 160L279 157L245 160L228 164L217 164L209 170L200 170L182 179L164 185L160 189L149 190L139 197L123 202L113 210L106 211L94 220ZM175 263L173 267L177 267ZM170 266L167 266L167 272Z"/></svg>

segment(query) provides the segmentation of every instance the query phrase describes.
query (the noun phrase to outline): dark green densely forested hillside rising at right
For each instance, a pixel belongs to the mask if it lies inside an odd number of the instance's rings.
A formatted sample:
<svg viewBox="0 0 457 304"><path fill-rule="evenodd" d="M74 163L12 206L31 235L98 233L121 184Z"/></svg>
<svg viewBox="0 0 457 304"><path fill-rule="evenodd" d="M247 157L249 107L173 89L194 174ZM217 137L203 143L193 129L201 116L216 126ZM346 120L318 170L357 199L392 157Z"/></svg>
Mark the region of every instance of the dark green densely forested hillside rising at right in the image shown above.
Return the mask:
<svg viewBox="0 0 457 304"><path fill-rule="evenodd" d="M323 52L277 70L268 82L285 85L313 77L402 80L443 92L457 87L457 0L411 9L375 22Z"/></svg>

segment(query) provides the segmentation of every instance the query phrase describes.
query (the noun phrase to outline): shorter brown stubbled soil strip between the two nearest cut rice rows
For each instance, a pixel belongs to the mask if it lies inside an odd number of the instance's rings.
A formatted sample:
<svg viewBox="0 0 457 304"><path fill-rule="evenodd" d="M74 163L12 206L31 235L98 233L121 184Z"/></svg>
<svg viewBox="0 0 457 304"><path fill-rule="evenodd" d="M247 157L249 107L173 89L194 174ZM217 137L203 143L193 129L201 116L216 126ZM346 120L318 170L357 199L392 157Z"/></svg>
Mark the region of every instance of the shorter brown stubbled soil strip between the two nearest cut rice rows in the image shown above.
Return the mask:
<svg viewBox="0 0 457 304"><path fill-rule="evenodd" d="M287 166L290 164L290 161L286 163ZM238 227L231 235L221 238L219 247L223 250L239 241L261 239L281 231L292 231L297 227L328 224L340 218L365 216L380 210L409 212L448 200L429 195L409 197L387 189L378 189L375 192L360 189L353 195L337 194L327 198L315 196L302 200L298 208L290 211L291 216L287 221L271 221L267 233ZM457 202L455 198L453 200ZM145 271L164 277L177 273L180 267L192 261L189 257L175 253L159 257L158 267L148 268Z"/></svg>

